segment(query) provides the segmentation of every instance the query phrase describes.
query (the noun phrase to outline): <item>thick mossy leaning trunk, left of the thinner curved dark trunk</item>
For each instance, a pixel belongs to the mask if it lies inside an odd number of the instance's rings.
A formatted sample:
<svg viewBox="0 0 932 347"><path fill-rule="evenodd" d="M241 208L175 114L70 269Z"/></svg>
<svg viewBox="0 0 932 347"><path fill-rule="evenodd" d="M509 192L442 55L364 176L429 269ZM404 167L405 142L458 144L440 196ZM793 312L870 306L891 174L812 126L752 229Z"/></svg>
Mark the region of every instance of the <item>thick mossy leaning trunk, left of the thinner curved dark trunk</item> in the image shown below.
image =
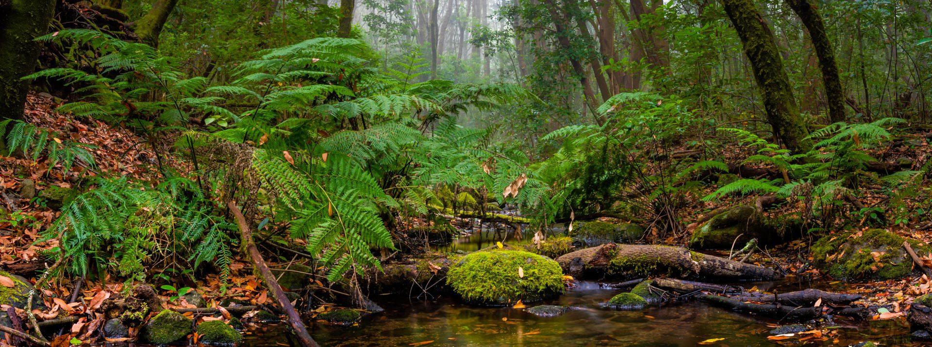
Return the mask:
<svg viewBox="0 0 932 347"><path fill-rule="evenodd" d="M761 90L767 119L784 146L795 153L809 150L808 131L789 87L789 77L774 42L774 33L752 0L720 0L744 45Z"/></svg>

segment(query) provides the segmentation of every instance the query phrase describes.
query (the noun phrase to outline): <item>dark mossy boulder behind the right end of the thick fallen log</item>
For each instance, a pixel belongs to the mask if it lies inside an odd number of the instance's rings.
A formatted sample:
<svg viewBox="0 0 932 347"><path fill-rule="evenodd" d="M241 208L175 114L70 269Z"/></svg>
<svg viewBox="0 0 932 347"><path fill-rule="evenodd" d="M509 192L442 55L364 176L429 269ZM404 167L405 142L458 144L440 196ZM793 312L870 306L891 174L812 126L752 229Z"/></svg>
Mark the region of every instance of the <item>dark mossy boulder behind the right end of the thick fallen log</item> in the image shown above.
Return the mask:
<svg viewBox="0 0 932 347"><path fill-rule="evenodd" d="M767 243L774 237L774 229L756 206L741 205L712 217L692 232L692 249L741 248L750 239Z"/></svg>

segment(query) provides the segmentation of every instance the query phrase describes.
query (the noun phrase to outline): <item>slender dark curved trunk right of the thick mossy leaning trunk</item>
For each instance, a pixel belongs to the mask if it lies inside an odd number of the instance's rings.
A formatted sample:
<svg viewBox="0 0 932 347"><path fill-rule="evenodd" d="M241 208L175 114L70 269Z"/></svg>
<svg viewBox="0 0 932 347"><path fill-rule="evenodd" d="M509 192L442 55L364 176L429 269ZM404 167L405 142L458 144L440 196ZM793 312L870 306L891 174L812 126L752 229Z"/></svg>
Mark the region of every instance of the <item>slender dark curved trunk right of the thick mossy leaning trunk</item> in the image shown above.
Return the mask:
<svg viewBox="0 0 932 347"><path fill-rule="evenodd" d="M818 66L822 70L822 86L829 101L829 119L831 122L843 121L844 118L844 91L842 78L838 76L838 63L835 62L835 49L831 47L829 35L825 30L822 16L809 3L809 0L786 0L793 12L800 17L802 24L809 30L809 38L816 49Z"/></svg>

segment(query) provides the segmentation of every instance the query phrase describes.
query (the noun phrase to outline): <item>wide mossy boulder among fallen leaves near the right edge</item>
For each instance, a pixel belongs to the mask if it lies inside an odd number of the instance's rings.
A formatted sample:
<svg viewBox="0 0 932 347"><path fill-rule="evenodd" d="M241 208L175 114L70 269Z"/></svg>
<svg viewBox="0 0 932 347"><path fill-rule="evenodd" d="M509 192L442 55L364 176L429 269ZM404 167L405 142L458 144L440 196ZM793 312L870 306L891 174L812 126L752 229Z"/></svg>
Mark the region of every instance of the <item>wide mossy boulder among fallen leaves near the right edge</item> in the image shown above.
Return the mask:
<svg viewBox="0 0 932 347"><path fill-rule="evenodd" d="M813 243L813 263L824 273L843 280L899 279L912 271L912 259L903 248L906 241L884 229L832 234ZM909 243L917 254L932 251L923 243Z"/></svg>

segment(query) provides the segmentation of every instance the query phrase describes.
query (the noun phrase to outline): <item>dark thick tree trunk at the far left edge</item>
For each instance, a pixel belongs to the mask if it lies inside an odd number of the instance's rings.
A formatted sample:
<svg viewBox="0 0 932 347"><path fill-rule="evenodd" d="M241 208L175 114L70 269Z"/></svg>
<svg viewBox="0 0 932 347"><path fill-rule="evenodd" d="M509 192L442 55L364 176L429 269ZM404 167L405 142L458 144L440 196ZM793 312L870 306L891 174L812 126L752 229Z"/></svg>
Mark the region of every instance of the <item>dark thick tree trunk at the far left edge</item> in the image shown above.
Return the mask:
<svg viewBox="0 0 932 347"><path fill-rule="evenodd" d="M0 0L0 119L21 119L40 46L33 39L45 35L55 0Z"/></svg>

